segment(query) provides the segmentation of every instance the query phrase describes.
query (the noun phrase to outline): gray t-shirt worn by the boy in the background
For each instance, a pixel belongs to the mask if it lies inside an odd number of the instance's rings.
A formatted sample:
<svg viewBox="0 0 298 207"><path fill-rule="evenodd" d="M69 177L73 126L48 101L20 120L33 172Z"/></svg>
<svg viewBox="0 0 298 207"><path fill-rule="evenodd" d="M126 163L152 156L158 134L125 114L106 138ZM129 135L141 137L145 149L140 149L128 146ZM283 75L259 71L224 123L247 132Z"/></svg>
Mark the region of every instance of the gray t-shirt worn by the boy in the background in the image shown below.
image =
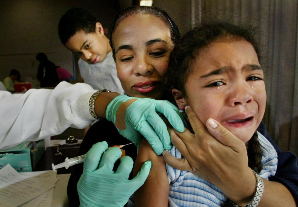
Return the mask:
<svg viewBox="0 0 298 207"><path fill-rule="evenodd" d="M91 85L94 89L107 89L124 94L124 90L117 75L112 52L107 53L106 57L101 62L95 64L88 64L80 59L79 68L84 82Z"/></svg>

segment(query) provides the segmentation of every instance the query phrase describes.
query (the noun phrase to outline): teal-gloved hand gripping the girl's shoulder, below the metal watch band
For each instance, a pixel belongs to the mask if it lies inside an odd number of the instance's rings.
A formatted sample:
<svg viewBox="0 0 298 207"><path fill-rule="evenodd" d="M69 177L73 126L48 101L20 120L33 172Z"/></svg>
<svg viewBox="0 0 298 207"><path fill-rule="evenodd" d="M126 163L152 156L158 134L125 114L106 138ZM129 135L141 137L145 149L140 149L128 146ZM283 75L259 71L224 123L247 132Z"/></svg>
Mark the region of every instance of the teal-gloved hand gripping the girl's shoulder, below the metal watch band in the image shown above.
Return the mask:
<svg viewBox="0 0 298 207"><path fill-rule="evenodd" d="M127 108L122 107L125 111L125 127L117 127L116 114L121 104L128 103L130 99L136 99ZM139 148L142 136L151 144L156 154L161 154L163 150L170 150L172 143L165 122L160 118L157 112L162 113L170 124L179 132L184 131L182 114L179 109L169 101L155 99L132 98L127 95L116 96L106 108L106 119L113 122L119 133L125 138L135 142ZM122 121L122 120L120 120ZM124 121L124 120L123 120Z"/></svg>

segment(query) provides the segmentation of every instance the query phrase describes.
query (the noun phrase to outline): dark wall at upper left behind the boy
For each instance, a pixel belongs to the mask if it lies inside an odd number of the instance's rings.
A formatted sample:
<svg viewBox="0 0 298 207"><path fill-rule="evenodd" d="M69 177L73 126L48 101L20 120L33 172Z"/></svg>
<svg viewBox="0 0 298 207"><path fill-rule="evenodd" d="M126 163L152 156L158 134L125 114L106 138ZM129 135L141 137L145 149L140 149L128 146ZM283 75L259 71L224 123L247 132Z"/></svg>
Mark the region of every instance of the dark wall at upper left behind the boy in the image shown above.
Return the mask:
<svg viewBox="0 0 298 207"><path fill-rule="evenodd" d="M38 52L72 73L72 53L60 42L58 22L72 7L90 11L109 28L120 8L117 1L0 1L0 80L11 69L19 70L22 79L36 78Z"/></svg>

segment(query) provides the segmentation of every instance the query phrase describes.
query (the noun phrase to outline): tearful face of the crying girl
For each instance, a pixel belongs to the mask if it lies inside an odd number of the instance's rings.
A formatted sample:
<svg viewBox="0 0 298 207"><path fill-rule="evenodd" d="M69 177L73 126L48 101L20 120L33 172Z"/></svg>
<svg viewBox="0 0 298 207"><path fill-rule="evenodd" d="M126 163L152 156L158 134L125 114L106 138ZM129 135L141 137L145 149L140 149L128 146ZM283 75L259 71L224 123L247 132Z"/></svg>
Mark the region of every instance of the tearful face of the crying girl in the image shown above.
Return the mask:
<svg viewBox="0 0 298 207"><path fill-rule="evenodd" d="M266 104L264 74L253 46L245 40L214 42L190 69L185 104L202 123L211 117L242 141L251 139Z"/></svg>

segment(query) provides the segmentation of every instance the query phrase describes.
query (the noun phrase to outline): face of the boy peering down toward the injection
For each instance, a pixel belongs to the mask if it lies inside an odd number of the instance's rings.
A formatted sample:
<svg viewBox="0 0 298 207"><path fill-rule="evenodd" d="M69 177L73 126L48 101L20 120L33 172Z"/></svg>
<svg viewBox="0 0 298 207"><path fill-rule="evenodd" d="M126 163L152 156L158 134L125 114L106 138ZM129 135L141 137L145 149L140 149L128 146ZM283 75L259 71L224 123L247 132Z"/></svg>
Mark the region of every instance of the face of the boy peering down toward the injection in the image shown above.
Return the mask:
<svg viewBox="0 0 298 207"><path fill-rule="evenodd" d="M97 22L95 27L93 33L85 33L83 30L77 31L65 43L67 49L78 54L82 60L89 64L101 62L106 57L106 53L111 51L102 25Z"/></svg>

